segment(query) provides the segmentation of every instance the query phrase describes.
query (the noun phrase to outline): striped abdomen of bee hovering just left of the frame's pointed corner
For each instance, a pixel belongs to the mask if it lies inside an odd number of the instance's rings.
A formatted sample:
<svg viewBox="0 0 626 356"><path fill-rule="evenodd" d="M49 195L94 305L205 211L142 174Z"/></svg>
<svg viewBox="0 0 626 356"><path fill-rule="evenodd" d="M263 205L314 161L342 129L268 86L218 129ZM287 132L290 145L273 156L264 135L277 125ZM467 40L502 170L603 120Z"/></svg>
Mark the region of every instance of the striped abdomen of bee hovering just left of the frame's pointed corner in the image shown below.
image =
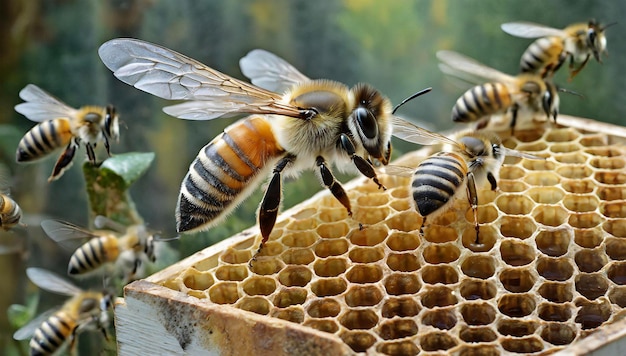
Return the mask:
<svg viewBox="0 0 626 356"><path fill-rule="evenodd" d="M89 273L108 262L114 262L120 254L119 241L114 235L94 237L80 246L70 258L67 273Z"/></svg>

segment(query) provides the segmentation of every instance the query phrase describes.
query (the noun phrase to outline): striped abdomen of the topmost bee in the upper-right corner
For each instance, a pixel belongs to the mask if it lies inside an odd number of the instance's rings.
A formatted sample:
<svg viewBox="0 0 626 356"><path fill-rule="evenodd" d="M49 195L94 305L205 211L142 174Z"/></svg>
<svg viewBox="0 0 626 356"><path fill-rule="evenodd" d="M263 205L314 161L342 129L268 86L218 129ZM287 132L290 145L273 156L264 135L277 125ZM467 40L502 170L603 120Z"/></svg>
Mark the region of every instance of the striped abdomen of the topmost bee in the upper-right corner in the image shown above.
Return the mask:
<svg viewBox="0 0 626 356"><path fill-rule="evenodd" d="M560 37L542 37L535 40L522 54L520 70L523 73L545 75L553 72L565 59L564 42Z"/></svg>

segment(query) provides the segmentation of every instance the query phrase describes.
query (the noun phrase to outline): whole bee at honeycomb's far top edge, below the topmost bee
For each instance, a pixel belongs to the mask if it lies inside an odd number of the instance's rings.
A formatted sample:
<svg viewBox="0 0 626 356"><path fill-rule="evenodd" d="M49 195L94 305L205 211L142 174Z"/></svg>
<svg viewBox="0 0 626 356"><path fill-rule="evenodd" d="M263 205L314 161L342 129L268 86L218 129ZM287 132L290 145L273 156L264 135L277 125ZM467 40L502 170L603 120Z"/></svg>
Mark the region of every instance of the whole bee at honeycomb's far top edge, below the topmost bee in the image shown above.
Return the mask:
<svg viewBox="0 0 626 356"><path fill-rule="evenodd" d="M439 67L449 75L467 81L487 80L467 90L452 108L452 120L471 122L494 114L511 112L510 127L520 122L532 121L536 114L544 113L556 122L559 112L557 87L551 80L537 74L504 74L478 61L453 51L439 51ZM479 127L487 122L479 124Z"/></svg>

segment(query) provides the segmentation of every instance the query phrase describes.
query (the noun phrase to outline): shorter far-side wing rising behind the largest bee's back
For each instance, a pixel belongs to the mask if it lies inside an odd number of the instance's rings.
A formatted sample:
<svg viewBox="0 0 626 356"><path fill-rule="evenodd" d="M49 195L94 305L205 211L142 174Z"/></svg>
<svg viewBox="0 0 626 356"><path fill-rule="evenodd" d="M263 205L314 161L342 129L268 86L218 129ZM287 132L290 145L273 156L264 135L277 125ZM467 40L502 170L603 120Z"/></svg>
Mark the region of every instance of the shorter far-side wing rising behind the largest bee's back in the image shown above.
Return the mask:
<svg viewBox="0 0 626 356"><path fill-rule="evenodd" d="M252 84L276 93L311 80L284 59L262 49L254 49L241 58L239 68Z"/></svg>

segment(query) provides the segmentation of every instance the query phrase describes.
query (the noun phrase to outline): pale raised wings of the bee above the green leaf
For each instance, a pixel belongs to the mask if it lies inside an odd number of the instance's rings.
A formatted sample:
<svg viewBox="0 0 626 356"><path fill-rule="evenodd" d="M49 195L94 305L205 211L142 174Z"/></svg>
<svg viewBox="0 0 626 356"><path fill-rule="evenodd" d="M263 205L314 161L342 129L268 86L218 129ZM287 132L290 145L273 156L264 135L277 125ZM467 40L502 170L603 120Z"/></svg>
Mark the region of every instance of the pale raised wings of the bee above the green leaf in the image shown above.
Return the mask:
<svg viewBox="0 0 626 356"><path fill-rule="evenodd" d="M25 103L15 105L15 111L31 121L41 122L56 118L71 118L77 110L67 106L50 93L34 84L28 84L20 91Z"/></svg>

